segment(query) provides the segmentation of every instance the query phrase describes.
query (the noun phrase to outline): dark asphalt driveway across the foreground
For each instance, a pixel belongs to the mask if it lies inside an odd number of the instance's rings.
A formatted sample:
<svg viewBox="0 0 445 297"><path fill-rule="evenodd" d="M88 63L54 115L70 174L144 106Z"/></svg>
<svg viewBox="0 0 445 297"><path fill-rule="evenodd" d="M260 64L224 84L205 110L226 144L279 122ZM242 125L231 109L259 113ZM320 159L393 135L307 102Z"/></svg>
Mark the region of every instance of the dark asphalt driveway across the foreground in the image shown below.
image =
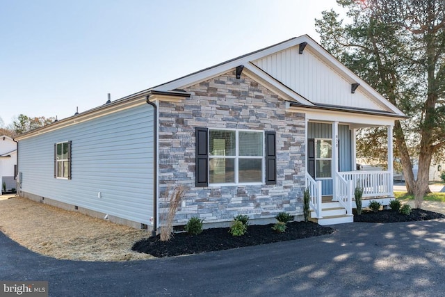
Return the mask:
<svg viewBox="0 0 445 297"><path fill-rule="evenodd" d="M327 236L134 262L36 255L0 233L0 280L49 296L443 296L445 220L350 223Z"/></svg>

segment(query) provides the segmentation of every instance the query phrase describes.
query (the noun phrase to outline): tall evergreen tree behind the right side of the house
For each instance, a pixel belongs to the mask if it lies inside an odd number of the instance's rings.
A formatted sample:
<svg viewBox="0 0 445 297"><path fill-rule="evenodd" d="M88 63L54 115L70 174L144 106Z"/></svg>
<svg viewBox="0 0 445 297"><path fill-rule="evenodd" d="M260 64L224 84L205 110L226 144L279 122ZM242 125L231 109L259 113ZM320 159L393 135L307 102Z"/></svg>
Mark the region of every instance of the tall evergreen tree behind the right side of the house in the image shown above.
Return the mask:
<svg viewBox="0 0 445 297"><path fill-rule="evenodd" d="M337 3L346 8L350 22L343 24L334 10L323 12L316 19L321 44L410 117L396 121L394 141L407 189L420 208L430 191L432 156L445 147L445 1ZM373 131L366 137L382 136L379 129ZM416 179L412 157L419 159Z"/></svg>

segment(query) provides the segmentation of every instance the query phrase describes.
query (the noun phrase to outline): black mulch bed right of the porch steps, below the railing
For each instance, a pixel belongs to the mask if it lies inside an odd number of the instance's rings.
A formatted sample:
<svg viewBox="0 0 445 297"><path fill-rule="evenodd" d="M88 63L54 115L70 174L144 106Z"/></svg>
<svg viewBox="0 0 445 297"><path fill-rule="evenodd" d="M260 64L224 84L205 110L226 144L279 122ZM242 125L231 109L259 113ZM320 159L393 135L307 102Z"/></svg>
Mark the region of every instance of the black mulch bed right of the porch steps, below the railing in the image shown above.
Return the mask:
<svg viewBox="0 0 445 297"><path fill-rule="evenodd" d="M385 209L378 212L362 211L362 215L354 215L354 222L398 223L414 222L416 220L433 220L435 218L445 218L445 215L425 209L412 209L412 213L409 215L401 214L392 209Z"/></svg>

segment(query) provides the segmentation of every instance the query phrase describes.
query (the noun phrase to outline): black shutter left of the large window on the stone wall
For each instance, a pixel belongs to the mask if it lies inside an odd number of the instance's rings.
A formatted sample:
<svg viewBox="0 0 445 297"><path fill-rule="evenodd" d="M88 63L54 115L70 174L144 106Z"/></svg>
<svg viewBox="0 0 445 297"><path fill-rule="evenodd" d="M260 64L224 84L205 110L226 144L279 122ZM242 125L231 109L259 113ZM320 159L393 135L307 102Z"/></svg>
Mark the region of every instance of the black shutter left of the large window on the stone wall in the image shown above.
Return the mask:
<svg viewBox="0 0 445 297"><path fill-rule="evenodd" d="M197 127L195 186L209 186L209 129Z"/></svg>

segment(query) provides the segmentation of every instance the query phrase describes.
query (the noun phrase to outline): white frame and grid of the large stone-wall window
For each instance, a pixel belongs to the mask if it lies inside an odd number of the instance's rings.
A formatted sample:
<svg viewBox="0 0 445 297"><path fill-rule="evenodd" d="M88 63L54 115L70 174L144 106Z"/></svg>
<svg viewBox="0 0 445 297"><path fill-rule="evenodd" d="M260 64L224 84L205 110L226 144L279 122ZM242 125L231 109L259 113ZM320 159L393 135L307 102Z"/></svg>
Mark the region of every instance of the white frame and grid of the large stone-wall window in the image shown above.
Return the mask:
<svg viewBox="0 0 445 297"><path fill-rule="evenodd" d="M234 166L234 182L227 182L227 183L211 183L210 182L210 166L209 166L209 172L207 172L207 175L209 175L209 186L235 186L235 185L256 185L256 184L264 184L265 179L265 172L266 172L266 143L264 140L264 131L262 130L249 130L249 129L223 129L223 128L209 128L209 138L208 138L208 145L210 150L210 132L211 131L235 131L235 155L234 156L220 156L220 155L211 155L211 152L209 151L209 163L211 159L218 159L218 158L224 158L224 159L234 159L235 160L235 166ZM261 140L263 141L263 150L262 150L262 156L239 156L239 132L255 132L255 133L261 133ZM261 159L261 182L239 182L239 160L240 159Z"/></svg>

